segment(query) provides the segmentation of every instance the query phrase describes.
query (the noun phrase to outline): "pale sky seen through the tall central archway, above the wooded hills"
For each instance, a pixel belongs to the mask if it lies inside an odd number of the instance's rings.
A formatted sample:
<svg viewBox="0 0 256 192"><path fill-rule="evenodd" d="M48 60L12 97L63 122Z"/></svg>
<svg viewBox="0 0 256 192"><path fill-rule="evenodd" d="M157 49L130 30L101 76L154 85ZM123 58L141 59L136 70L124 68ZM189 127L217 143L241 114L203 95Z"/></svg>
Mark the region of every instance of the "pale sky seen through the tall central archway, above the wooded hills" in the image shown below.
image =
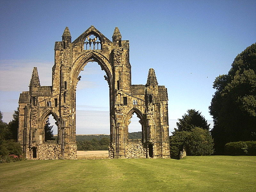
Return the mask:
<svg viewBox="0 0 256 192"><path fill-rule="evenodd" d="M76 86L76 134L110 134L109 87L97 62L88 62Z"/></svg>

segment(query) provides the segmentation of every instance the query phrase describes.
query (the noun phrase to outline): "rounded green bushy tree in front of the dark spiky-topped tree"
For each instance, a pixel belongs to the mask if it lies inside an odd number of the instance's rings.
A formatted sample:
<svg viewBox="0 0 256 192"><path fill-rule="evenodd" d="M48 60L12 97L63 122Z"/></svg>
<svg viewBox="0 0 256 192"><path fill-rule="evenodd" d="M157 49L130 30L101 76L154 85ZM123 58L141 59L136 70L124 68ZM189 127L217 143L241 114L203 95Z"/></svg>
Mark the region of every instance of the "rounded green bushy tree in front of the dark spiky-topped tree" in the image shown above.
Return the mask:
<svg viewBox="0 0 256 192"><path fill-rule="evenodd" d="M209 130L195 127L189 132L186 146L192 156L208 156L213 154L213 139Z"/></svg>

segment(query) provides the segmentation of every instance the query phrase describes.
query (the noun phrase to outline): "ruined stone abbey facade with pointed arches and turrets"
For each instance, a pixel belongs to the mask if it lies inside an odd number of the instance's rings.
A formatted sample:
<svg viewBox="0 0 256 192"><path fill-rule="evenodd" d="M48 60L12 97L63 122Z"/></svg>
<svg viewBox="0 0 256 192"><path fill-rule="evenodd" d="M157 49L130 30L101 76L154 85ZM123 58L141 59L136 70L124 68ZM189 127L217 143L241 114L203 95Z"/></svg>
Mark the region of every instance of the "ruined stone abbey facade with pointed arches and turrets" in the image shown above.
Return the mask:
<svg viewBox="0 0 256 192"><path fill-rule="evenodd" d="M106 72L110 103L109 158L170 158L167 89L150 68L146 85L131 84L129 41L116 27L112 42L94 26L71 42L68 27L55 42L52 86L41 86L37 68L29 91L19 99L18 141L30 159L76 159L76 85L88 62ZM140 118L141 140L128 139L133 114ZM52 114L58 140L45 141L44 125Z"/></svg>

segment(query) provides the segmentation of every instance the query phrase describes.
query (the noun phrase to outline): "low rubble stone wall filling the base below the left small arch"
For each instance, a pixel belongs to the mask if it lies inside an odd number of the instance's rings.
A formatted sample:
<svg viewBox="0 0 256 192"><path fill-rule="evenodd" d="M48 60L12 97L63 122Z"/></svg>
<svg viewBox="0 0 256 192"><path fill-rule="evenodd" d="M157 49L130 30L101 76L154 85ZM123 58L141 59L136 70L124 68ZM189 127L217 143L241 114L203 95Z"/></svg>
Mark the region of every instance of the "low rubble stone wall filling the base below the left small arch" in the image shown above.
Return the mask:
<svg viewBox="0 0 256 192"><path fill-rule="evenodd" d="M60 145L54 143L39 144L37 146L37 159L59 159Z"/></svg>

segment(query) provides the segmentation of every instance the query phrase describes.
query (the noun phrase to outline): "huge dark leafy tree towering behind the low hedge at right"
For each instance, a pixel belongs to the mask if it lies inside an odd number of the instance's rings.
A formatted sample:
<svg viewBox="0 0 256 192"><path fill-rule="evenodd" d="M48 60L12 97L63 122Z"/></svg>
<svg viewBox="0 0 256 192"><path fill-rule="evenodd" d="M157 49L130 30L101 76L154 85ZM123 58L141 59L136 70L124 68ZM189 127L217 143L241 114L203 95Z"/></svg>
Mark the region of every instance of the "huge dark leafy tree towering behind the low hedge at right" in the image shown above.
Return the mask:
<svg viewBox="0 0 256 192"><path fill-rule="evenodd" d="M256 140L256 44L238 54L228 74L216 77L210 114L217 154L228 142Z"/></svg>

